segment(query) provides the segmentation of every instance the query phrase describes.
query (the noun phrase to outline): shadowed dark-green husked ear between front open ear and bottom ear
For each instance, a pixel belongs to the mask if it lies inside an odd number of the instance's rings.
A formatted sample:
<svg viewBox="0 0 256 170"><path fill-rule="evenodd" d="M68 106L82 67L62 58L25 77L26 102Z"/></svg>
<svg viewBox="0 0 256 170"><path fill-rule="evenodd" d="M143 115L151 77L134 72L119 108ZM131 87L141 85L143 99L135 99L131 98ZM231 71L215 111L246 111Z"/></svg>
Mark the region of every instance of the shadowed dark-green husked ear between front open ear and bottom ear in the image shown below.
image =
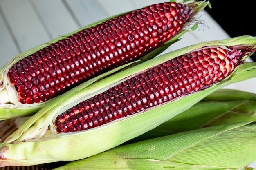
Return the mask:
<svg viewBox="0 0 256 170"><path fill-rule="evenodd" d="M190 109L126 143L241 121L256 121L256 94L219 89Z"/></svg>

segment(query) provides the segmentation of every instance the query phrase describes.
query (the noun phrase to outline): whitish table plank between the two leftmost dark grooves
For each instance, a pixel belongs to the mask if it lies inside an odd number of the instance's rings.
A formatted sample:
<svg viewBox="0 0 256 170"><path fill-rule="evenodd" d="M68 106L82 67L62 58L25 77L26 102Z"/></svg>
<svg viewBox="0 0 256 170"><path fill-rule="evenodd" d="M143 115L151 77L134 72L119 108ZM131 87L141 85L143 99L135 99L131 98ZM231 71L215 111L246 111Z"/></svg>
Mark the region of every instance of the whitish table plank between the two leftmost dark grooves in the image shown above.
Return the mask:
<svg viewBox="0 0 256 170"><path fill-rule="evenodd" d="M22 52L50 40L28 0L1 0L0 6Z"/></svg>

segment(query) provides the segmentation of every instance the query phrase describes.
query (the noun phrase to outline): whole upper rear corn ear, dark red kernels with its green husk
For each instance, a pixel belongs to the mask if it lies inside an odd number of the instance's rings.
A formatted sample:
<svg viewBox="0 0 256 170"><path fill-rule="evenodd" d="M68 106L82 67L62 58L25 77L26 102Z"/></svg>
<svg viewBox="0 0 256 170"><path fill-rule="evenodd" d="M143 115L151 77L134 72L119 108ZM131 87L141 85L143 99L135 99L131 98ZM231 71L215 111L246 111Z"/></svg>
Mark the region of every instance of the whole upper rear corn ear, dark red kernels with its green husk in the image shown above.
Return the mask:
<svg viewBox="0 0 256 170"><path fill-rule="evenodd" d="M195 15L208 5L153 4L17 55L0 70L0 120L32 115L70 89L78 91L83 82L90 84L132 62L155 57L196 29Z"/></svg>

